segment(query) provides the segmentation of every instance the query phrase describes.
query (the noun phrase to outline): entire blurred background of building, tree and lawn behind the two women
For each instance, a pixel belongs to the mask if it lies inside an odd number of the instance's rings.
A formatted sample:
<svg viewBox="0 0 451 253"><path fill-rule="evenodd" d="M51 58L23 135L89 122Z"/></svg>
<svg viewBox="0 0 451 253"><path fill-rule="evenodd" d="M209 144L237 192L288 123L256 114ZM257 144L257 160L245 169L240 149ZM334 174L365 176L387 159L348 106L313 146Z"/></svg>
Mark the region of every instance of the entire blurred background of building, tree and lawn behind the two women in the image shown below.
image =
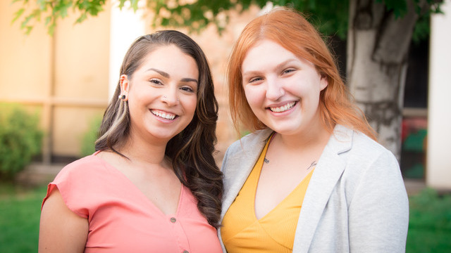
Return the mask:
<svg viewBox="0 0 451 253"><path fill-rule="evenodd" d="M284 3L326 35L381 143L400 161L411 205L407 252L450 252L451 1L273 2L0 1L1 252L36 252L47 183L94 152L125 51L142 34L180 30L206 53L220 166L240 137L228 114L228 55L250 20Z"/></svg>

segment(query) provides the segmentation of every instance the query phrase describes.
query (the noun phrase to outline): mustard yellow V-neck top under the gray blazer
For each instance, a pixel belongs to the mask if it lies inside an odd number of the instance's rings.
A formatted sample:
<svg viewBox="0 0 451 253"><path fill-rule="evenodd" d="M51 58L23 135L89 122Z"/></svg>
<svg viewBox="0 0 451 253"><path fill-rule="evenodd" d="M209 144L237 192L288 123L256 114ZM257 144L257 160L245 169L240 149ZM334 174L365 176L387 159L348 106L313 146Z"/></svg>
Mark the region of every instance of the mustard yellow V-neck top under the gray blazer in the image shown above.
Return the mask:
<svg viewBox="0 0 451 253"><path fill-rule="evenodd" d="M269 143L223 218L221 235L229 253L292 252L299 212L313 169L282 202L257 219L255 194Z"/></svg>

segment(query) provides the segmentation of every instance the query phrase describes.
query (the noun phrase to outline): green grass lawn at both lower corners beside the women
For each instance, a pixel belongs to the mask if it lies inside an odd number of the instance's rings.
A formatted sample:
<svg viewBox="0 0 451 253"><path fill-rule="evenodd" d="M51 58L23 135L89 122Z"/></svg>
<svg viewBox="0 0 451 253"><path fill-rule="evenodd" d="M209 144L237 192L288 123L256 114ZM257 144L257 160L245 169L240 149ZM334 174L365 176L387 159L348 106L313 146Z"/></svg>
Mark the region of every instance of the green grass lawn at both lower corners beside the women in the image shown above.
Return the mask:
<svg viewBox="0 0 451 253"><path fill-rule="evenodd" d="M37 252L39 215L46 187L21 188L0 182L2 253ZM410 197L408 253L451 252L451 195L423 190Z"/></svg>

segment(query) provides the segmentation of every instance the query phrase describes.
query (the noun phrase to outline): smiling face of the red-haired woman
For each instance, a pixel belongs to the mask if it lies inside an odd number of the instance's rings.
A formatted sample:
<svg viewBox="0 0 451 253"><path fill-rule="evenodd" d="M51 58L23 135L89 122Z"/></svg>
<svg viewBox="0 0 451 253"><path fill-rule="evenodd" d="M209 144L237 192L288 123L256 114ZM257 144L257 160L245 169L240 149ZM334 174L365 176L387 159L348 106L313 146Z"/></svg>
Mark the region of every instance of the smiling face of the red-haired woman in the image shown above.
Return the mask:
<svg viewBox="0 0 451 253"><path fill-rule="evenodd" d="M312 63L268 39L249 48L242 62L242 85L252 112L279 134L321 126L319 93L327 84Z"/></svg>

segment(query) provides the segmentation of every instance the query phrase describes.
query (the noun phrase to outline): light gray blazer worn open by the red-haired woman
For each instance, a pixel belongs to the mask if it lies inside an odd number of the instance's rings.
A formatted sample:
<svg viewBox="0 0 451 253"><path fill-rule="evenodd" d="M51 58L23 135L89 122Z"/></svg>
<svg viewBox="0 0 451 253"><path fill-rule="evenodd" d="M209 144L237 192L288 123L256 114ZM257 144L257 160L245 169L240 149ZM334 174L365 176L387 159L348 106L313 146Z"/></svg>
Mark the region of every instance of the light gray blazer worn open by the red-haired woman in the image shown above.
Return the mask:
<svg viewBox="0 0 451 253"><path fill-rule="evenodd" d="M249 134L226 151L221 220L271 132ZM335 126L305 193L293 252L405 252L408 223L395 156L368 136Z"/></svg>

